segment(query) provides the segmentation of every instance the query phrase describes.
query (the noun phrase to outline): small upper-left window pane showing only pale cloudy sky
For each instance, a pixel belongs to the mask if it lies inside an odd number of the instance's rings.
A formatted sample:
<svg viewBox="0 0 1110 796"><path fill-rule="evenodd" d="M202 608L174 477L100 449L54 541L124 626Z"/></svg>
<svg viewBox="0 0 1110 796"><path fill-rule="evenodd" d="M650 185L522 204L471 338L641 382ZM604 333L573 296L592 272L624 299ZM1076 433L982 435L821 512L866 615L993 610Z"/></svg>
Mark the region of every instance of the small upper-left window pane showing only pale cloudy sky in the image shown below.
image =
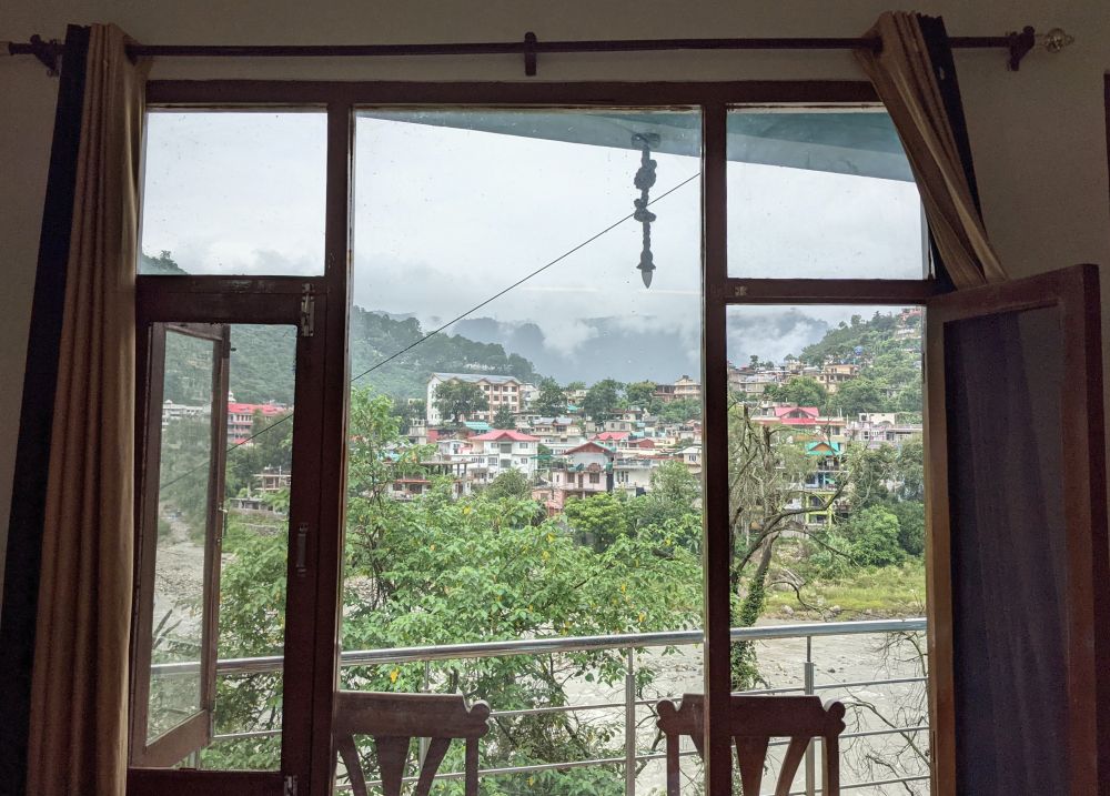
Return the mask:
<svg viewBox="0 0 1110 796"><path fill-rule="evenodd" d="M323 113L152 111L142 274L321 274Z"/></svg>

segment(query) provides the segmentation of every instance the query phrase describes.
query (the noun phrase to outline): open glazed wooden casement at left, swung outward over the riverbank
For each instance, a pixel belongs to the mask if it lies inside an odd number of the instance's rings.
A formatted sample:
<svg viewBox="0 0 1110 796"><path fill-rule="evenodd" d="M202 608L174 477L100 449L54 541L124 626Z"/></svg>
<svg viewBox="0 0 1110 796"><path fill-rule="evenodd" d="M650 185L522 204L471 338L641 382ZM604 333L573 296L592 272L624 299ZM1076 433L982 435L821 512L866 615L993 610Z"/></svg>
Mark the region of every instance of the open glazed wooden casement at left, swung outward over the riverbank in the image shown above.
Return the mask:
<svg viewBox="0 0 1110 796"><path fill-rule="evenodd" d="M150 326L133 765L174 766L212 740L229 349L223 324Z"/></svg>

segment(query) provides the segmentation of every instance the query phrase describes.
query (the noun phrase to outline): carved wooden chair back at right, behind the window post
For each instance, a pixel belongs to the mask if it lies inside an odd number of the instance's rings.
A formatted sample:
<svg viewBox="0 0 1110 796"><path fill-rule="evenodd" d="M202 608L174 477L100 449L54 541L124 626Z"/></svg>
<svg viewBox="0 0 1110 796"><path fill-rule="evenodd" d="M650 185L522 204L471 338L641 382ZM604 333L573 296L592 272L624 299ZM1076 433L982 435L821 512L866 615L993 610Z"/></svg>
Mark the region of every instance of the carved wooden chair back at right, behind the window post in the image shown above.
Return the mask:
<svg viewBox="0 0 1110 796"><path fill-rule="evenodd" d="M705 697L684 694L682 706L663 699L657 706L658 726L667 739L667 796L678 796L679 740L689 736L697 753L705 756ZM745 796L758 796L763 783L767 746L771 738L789 738L775 796L787 796L814 738L821 738L824 753L823 792L840 795L839 736L844 732L844 705L827 706L816 696L748 696L734 694L729 709L729 730L736 745L740 784Z"/></svg>

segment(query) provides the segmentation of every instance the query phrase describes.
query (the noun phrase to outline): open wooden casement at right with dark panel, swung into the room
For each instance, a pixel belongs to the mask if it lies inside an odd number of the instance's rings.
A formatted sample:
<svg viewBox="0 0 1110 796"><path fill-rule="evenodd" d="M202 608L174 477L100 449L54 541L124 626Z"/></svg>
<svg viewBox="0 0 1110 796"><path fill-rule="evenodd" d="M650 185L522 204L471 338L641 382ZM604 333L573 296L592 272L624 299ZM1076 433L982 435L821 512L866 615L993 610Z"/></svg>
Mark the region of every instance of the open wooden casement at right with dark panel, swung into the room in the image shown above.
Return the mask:
<svg viewBox="0 0 1110 796"><path fill-rule="evenodd" d="M934 792L1107 793L1097 268L931 301L926 355Z"/></svg>

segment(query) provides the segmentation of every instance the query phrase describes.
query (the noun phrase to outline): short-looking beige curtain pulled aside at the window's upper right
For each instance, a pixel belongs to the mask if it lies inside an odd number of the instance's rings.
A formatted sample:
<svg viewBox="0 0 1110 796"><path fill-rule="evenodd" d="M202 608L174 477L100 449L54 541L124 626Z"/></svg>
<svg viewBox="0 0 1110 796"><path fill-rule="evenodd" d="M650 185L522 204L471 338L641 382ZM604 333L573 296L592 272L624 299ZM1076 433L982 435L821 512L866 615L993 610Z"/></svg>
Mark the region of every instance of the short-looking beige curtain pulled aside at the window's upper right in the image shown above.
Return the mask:
<svg viewBox="0 0 1110 796"><path fill-rule="evenodd" d="M948 275L957 288L1003 281L1006 272L971 198L917 14L887 11L866 36L879 37L882 50L859 50L856 58L898 129Z"/></svg>

